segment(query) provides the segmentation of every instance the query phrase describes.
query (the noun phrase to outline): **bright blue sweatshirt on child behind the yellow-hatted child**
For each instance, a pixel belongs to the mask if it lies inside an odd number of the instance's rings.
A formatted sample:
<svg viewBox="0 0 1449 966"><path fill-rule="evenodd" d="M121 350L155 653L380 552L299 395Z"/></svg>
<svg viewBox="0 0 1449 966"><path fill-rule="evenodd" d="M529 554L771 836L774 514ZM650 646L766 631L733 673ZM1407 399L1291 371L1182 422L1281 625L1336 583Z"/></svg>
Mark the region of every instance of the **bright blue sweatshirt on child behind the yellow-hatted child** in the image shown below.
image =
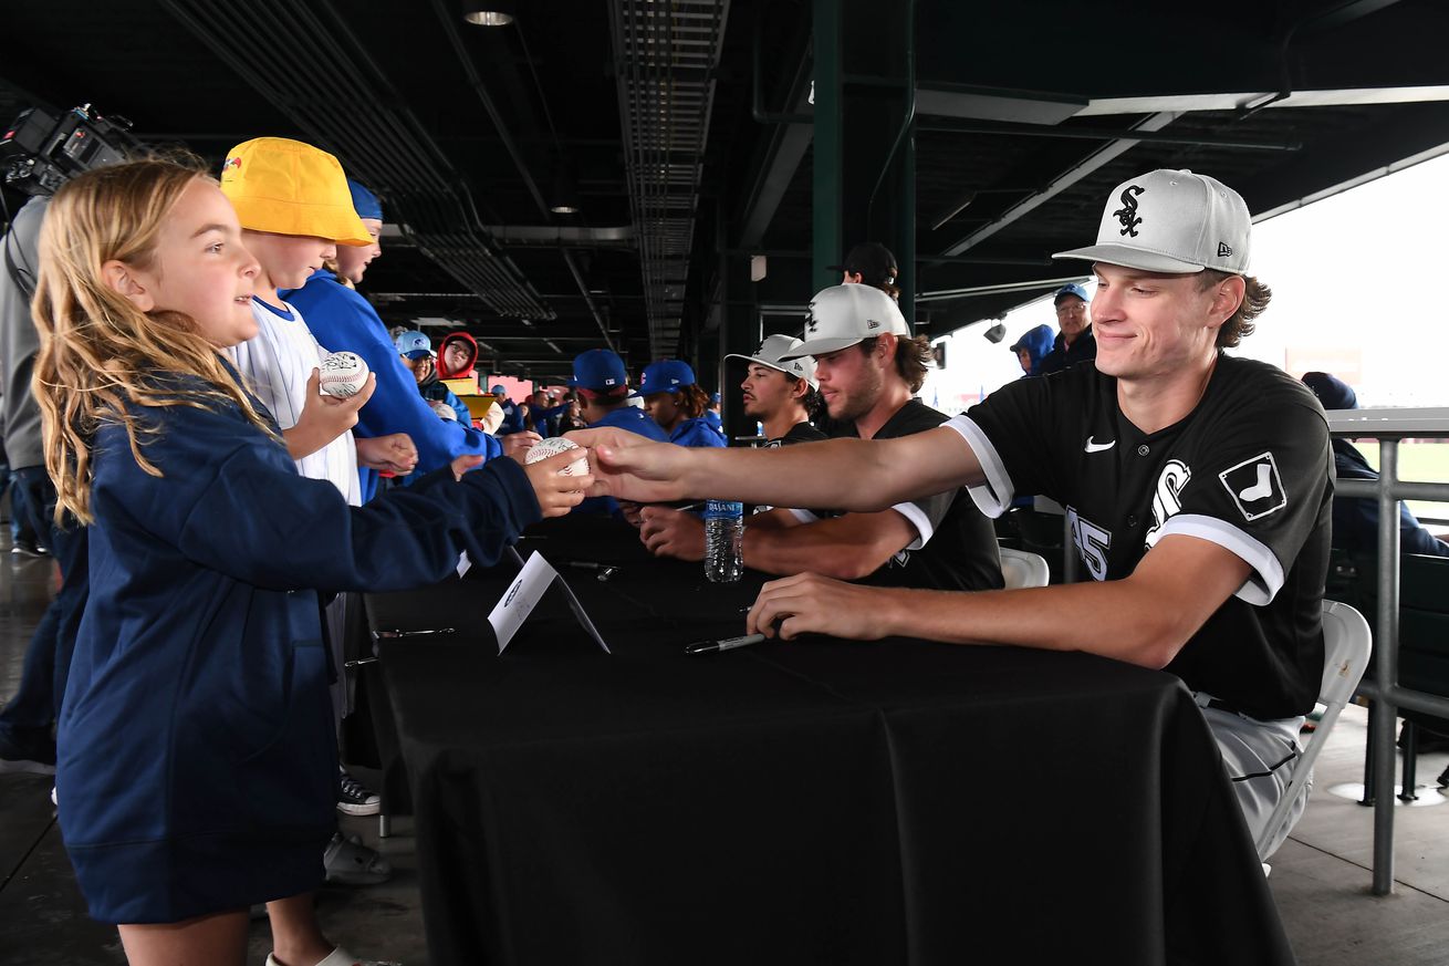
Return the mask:
<svg viewBox="0 0 1449 966"><path fill-rule="evenodd" d="M397 357L397 347L387 326L361 294L348 289L327 270L314 271L307 284L284 296L301 309L307 328L327 351L356 352L377 374L377 392L358 413L354 432L359 437L385 437L406 432L417 447L417 470L432 473L464 454L483 454L493 460L503 445L468 422L438 418L417 392L417 380ZM377 493L377 471L358 467L362 499Z"/></svg>

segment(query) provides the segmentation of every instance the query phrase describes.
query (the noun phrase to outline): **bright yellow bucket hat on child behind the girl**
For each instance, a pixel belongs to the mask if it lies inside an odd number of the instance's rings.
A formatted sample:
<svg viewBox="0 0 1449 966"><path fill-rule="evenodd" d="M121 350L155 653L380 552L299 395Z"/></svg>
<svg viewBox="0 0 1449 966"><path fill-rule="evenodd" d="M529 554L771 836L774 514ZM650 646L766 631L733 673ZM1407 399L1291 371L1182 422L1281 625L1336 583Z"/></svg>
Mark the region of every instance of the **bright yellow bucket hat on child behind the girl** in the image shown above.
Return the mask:
<svg viewBox="0 0 1449 966"><path fill-rule="evenodd" d="M310 144L254 138L236 145L222 165L222 193L242 228L329 238L339 245L372 244L352 209L342 165Z"/></svg>

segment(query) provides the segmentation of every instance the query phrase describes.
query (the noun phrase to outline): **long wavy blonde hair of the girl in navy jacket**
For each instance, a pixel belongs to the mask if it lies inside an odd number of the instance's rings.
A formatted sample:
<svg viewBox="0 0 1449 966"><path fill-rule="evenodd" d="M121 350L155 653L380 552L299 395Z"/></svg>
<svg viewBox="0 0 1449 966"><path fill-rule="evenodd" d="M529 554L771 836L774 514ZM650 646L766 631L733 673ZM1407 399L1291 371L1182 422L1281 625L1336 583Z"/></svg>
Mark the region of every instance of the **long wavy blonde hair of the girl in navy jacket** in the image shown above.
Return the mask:
<svg viewBox="0 0 1449 966"><path fill-rule="evenodd" d="M119 164L74 178L45 213L30 303L41 332L32 390L41 405L57 522L65 511L94 522L91 445L103 422L125 426L136 464L161 476L142 451L155 426L139 418L138 408L235 405L274 435L194 321L177 312L141 312L101 274L110 260L151 268L162 223L197 178L210 180L194 158ZM199 376L204 387L156 379L162 373Z"/></svg>

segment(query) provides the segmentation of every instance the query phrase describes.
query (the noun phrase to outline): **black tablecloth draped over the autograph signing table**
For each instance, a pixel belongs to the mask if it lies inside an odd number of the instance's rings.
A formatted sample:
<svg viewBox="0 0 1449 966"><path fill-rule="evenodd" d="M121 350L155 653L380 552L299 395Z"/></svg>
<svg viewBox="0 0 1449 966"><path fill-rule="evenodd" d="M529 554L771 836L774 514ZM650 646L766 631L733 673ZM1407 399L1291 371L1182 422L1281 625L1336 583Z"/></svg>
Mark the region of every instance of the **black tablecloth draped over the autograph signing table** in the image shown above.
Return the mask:
<svg viewBox="0 0 1449 966"><path fill-rule="evenodd" d="M765 643L758 579L558 521L614 654L545 598L503 657L511 573L377 595L449 963L1290 963L1207 727L1164 673L920 641Z"/></svg>

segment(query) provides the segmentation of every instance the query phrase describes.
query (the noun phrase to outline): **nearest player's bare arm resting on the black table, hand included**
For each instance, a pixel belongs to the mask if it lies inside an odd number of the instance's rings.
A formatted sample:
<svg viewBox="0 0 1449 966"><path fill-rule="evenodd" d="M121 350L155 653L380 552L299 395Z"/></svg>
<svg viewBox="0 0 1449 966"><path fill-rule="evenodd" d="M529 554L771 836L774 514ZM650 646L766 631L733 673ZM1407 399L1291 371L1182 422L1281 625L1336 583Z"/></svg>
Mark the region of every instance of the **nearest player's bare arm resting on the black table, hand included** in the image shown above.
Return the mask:
<svg viewBox="0 0 1449 966"><path fill-rule="evenodd" d="M1217 544L1169 535L1130 577L1026 590L904 590L800 574L765 585L748 629L772 634L781 621L785 638L813 632L1016 644L1159 669L1243 586L1249 570Z"/></svg>

